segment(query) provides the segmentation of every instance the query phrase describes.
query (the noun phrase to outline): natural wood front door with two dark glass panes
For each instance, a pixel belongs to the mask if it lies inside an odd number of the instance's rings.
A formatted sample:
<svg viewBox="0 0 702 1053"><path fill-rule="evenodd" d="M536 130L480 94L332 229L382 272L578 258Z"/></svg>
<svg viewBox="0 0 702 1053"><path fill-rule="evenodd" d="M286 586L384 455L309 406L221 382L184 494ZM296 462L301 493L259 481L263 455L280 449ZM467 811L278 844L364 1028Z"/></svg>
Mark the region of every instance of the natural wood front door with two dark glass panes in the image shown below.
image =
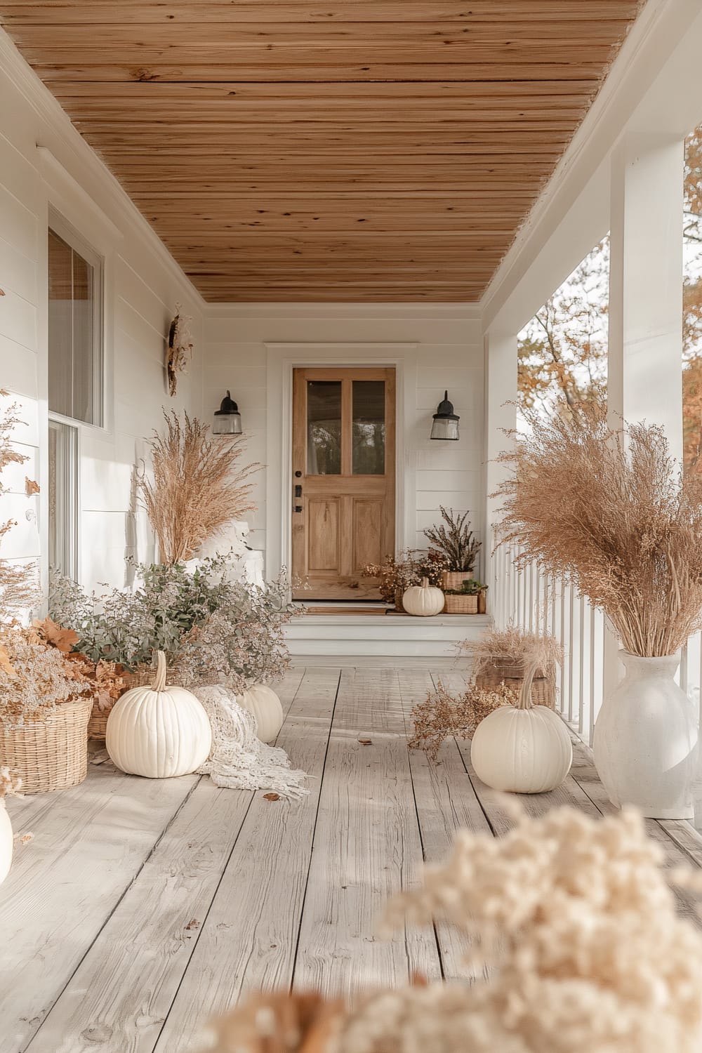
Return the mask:
<svg viewBox="0 0 702 1053"><path fill-rule="evenodd" d="M295 370L297 599L379 599L363 574L395 552L395 370Z"/></svg>

